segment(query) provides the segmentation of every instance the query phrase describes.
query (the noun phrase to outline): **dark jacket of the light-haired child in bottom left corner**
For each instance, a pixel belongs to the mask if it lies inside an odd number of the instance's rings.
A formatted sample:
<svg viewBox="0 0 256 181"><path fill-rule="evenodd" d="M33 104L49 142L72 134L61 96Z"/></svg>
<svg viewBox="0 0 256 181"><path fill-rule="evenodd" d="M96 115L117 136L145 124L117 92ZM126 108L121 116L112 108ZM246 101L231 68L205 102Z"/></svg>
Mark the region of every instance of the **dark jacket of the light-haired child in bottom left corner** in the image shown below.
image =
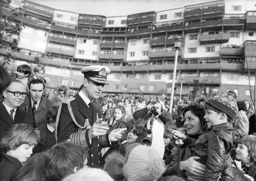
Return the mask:
<svg viewBox="0 0 256 181"><path fill-rule="evenodd" d="M7 154L3 154L3 160L0 163L0 181L10 181L22 167L21 162Z"/></svg>

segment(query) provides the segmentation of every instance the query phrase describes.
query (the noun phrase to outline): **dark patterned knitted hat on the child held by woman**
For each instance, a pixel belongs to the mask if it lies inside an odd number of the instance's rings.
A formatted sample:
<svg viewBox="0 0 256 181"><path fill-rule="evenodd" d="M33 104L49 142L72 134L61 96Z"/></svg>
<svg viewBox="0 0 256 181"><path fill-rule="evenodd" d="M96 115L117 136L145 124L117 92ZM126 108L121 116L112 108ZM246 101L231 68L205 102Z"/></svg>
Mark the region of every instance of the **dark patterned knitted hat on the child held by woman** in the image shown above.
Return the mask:
<svg viewBox="0 0 256 181"><path fill-rule="evenodd" d="M234 99L233 95L229 93L218 94L212 99L207 100L205 104L226 113L231 119L234 119L236 117L236 113L238 112L236 100Z"/></svg>

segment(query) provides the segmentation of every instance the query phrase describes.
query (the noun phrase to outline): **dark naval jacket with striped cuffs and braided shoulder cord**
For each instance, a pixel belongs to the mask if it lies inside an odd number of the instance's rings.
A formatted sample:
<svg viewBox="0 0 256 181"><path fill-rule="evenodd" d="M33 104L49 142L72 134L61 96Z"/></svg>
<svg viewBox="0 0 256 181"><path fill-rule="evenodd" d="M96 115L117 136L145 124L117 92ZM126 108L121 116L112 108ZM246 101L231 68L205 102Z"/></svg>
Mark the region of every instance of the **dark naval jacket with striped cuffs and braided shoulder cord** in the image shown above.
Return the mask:
<svg viewBox="0 0 256 181"><path fill-rule="evenodd" d="M92 106L92 109L89 109L79 94L76 94L75 99L70 101L70 106L78 125L84 126L86 119L89 119L90 126L92 126L97 120L97 108ZM59 122L57 124L58 142L70 140L71 142L86 146L86 148L89 149L88 152L90 154L88 159L89 166L99 167L101 160L100 149L111 146L108 140L108 134L95 137L90 141L89 128L79 129L70 116L68 104L65 103L61 106Z"/></svg>

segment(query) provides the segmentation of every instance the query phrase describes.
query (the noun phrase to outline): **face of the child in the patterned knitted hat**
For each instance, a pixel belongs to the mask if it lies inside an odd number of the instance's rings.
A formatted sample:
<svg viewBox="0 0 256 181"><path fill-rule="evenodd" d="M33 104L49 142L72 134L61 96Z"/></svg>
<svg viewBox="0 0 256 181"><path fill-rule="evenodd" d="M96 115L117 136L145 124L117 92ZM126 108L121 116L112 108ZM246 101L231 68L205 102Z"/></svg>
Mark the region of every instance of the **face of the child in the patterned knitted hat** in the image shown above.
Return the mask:
<svg viewBox="0 0 256 181"><path fill-rule="evenodd" d="M204 118L205 118L205 120L206 120L207 127L211 128L211 126L224 123L224 122L222 122L222 120L220 119L221 114L217 113L216 111L211 110L211 109L207 109L205 112L206 112L206 113L205 113L205 115L204 115Z"/></svg>

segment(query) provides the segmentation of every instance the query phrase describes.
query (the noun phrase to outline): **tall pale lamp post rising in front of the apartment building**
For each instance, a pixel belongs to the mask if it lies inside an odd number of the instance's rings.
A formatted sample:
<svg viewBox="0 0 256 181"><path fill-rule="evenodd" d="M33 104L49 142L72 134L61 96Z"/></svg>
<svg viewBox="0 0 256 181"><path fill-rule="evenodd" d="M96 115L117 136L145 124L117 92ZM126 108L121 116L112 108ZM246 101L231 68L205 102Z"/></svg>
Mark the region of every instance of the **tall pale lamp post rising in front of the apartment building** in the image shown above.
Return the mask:
<svg viewBox="0 0 256 181"><path fill-rule="evenodd" d="M172 77L172 93L170 100L170 109L169 112L172 113L172 104L173 104L173 96L174 96L174 87L175 87L175 79L176 79L176 71L177 71L177 63L178 63L178 53L181 47L182 40L180 38L175 38L174 47L175 47L175 59L174 59L174 69L173 69L173 77Z"/></svg>

